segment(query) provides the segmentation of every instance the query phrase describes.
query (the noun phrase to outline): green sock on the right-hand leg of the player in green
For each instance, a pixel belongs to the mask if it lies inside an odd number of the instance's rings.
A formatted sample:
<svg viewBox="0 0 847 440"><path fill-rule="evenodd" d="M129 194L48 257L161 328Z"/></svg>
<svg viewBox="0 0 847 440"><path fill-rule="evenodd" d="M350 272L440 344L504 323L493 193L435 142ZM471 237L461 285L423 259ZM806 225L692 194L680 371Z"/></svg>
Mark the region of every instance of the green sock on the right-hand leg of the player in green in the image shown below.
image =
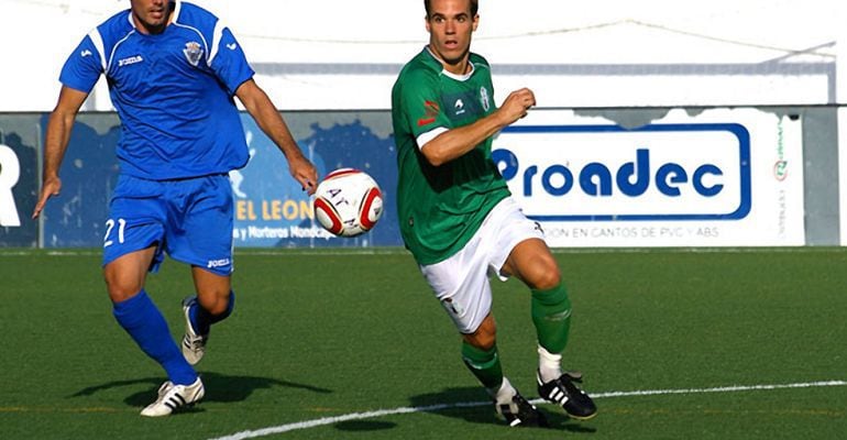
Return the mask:
<svg viewBox="0 0 847 440"><path fill-rule="evenodd" d="M547 290L532 289L532 322L538 344L550 353L561 353L571 329L571 299L561 283Z"/></svg>

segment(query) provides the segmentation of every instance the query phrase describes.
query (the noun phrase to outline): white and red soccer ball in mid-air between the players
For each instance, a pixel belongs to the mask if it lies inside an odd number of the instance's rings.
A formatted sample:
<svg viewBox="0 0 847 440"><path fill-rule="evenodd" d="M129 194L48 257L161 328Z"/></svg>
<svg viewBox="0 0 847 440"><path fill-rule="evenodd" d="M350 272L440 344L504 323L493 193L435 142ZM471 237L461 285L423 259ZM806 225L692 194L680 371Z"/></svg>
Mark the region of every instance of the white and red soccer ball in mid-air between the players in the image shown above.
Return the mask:
<svg viewBox="0 0 847 440"><path fill-rule="evenodd" d="M339 168L318 184L314 207L323 229L356 237L373 229L383 215L383 191L367 173Z"/></svg>

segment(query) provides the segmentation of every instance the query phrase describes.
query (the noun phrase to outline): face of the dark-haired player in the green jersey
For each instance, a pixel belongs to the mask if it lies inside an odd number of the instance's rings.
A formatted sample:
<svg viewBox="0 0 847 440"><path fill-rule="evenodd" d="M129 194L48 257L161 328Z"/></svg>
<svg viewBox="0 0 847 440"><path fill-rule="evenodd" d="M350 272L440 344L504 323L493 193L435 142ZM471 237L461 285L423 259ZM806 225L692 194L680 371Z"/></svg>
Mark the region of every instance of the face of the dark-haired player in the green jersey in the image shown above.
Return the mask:
<svg viewBox="0 0 847 440"><path fill-rule="evenodd" d="M429 48L457 75L465 73L471 50L471 34L480 15L471 16L471 0L432 0L427 18Z"/></svg>

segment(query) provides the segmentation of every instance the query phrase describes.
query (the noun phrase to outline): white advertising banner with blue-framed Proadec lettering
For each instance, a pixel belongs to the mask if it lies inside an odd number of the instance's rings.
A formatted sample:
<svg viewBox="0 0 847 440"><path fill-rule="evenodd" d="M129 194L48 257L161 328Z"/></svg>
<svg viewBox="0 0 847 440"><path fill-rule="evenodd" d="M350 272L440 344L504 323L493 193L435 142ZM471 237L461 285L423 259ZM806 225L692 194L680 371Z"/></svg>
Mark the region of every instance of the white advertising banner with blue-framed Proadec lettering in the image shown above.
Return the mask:
<svg viewBox="0 0 847 440"><path fill-rule="evenodd" d="M551 246L803 245L801 129L756 109L631 129L536 111L494 160Z"/></svg>

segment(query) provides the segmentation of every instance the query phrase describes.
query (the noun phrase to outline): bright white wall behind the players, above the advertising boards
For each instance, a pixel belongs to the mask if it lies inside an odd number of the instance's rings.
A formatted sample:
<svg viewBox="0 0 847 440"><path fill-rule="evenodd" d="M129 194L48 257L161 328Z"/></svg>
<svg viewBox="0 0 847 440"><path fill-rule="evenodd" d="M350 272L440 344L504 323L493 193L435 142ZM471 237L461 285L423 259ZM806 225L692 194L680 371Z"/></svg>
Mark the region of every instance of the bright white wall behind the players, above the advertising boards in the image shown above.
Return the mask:
<svg viewBox="0 0 847 440"><path fill-rule="evenodd" d="M427 40L420 0L196 2L268 66L256 80L286 110L387 109L396 69ZM832 103L837 3L483 0L473 50L501 99L529 86L546 107ZM0 0L0 111L51 110L67 55L128 7ZM111 109L102 81L86 109Z"/></svg>

